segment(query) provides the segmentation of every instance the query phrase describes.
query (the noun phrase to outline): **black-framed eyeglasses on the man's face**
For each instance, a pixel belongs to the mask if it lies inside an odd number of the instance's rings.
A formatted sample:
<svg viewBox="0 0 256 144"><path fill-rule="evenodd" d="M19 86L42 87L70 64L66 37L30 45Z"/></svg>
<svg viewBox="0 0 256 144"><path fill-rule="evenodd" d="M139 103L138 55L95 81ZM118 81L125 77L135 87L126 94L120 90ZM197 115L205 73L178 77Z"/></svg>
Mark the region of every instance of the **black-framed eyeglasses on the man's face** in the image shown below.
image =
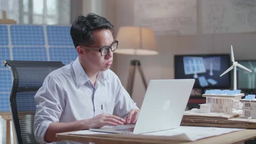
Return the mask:
<svg viewBox="0 0 256 144"><path fill-rule="evenodd" d="M86 48L89 49L89 50L101 52L101 56L106 56L106 55L108 55L109 50L111 50L112 52L117 50L118 41L114 40L111 45L109 45L109 46L102 46L100 48L90 47L90 46L87 46L87 45L82 45L82 46L86 46Z"/></svg>

